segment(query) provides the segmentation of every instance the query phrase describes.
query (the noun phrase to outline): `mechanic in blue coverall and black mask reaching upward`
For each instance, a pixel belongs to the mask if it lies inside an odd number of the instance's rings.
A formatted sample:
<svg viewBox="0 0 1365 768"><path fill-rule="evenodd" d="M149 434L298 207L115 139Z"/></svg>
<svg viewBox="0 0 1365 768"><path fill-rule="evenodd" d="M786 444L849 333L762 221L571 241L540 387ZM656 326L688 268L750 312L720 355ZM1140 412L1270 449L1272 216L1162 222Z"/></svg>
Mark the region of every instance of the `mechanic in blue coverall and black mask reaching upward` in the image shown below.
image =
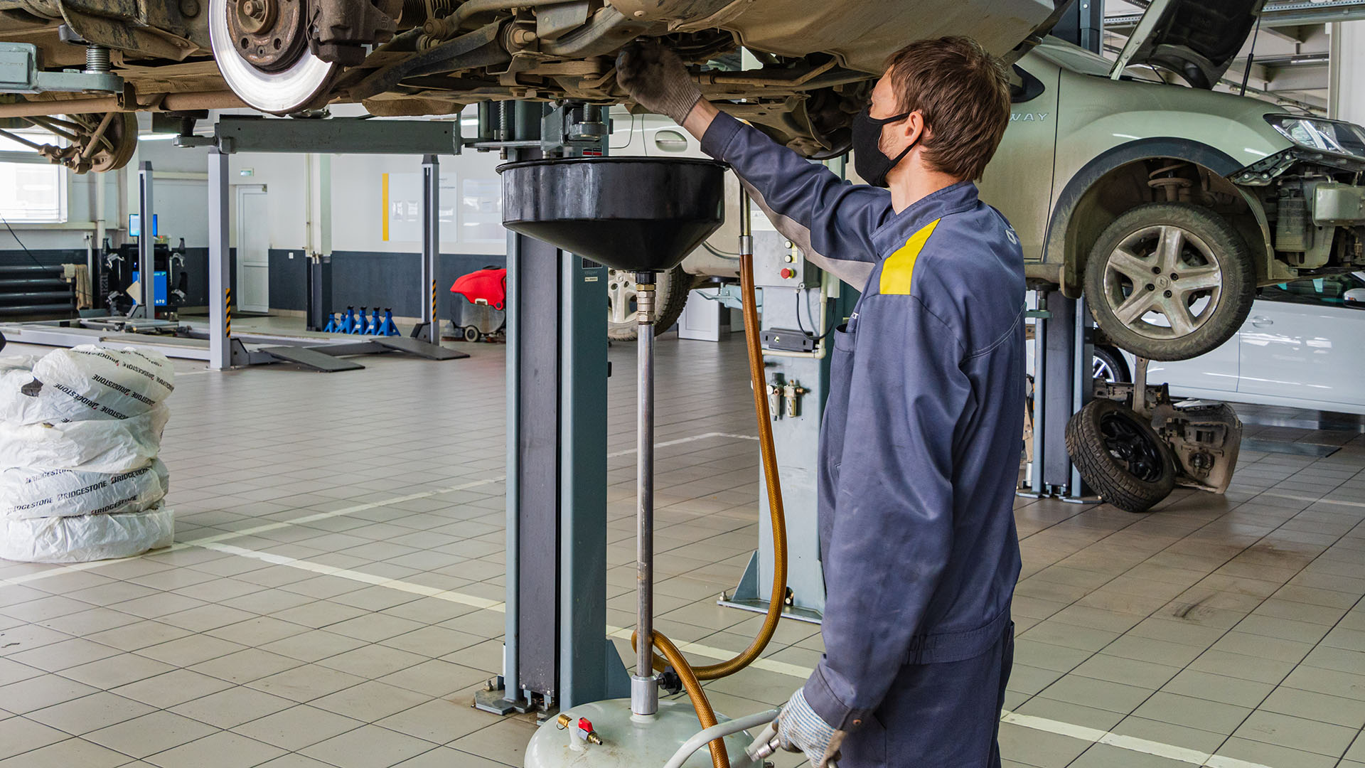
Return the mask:
<svg viewBox="0 0 1365 768"><path fill-rule="evenodd" d="M966 38L889 60L850 184L702 98L635 45L620 85L729 163L778 230L861 291L820 428L824 656L778 719L816 768L999 767L1020 573L1024 256L975 179L1009 123L1005 66Z"/></svg>

